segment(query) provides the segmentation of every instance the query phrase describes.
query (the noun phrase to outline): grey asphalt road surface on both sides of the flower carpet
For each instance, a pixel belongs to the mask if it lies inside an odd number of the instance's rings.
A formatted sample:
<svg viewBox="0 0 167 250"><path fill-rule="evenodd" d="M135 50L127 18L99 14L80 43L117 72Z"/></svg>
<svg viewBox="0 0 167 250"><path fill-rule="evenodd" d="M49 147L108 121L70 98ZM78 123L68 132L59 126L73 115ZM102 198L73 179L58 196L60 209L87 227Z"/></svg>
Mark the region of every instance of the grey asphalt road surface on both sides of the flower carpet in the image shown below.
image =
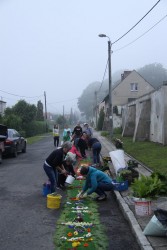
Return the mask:
<svg viewBox="0 0 167 250"><path fill-rule="evenodd" d="M54 250L53 235L61 209L46 207L43 162L54 150L52 136L28 145L27 153L5 158L0 165L0 250ZM65 197L65 192L60 191ZM114 193L100 203L101 222L110 239L109 250L140 249L124 219ZM99 249L98 249L99 250Z"/></svg>

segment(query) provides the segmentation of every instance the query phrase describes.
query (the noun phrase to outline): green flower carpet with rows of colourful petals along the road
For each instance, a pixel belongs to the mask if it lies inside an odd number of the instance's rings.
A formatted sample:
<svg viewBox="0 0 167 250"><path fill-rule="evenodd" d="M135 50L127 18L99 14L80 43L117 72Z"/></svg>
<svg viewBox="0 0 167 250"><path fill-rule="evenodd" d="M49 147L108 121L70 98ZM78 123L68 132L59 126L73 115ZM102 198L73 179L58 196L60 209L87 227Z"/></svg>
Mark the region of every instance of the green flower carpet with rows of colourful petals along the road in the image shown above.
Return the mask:
<svg viewBox="0 0 167 250"><path fill-rule="evenodd" d="M81 161L76 171L82 164ZM67 199L54 236L56 250L108 249L105 227L100 223L98 204L93 195L86 199L76 198L83 183L84 180L79 178L67 189Z"/></svg>

